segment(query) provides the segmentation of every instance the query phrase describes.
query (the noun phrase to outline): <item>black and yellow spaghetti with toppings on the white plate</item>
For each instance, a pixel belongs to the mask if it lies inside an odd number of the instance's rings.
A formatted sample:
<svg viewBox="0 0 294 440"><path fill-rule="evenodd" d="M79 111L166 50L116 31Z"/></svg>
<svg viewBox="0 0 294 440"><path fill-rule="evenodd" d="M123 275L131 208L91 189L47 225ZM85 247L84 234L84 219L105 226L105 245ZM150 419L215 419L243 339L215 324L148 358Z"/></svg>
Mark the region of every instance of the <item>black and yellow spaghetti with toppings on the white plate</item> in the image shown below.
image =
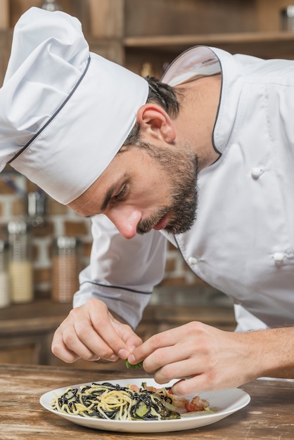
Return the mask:
<svg viewBox="0 0 294 440"><path fill-rule="evenodd" d="M109 420L170 420L181 418L180 413L207 411L209 403L196 396L189 402L175 396L170 388L147 387L143 382L121 387L109 382L68 388L55 396L51 409L60 413Z"/></svg>

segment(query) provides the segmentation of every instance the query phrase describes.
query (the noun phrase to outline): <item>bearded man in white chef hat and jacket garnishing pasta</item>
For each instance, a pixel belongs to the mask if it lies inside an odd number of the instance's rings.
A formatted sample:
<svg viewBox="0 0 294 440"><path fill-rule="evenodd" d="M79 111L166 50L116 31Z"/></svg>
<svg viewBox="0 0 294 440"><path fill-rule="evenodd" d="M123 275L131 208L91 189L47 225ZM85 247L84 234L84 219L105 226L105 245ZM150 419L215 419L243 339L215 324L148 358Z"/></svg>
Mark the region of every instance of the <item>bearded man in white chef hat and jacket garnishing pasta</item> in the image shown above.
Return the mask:
<svg viewBox="0 0 294 440"><path fill-rule="evenodd" d="M143 368L177 394L294 378L294 62L197 46L162 82L89 52L81 26L32 8L0 90L6 162L91 216L91 262L53 337L65 362ZM234 298L236 332L192 322L142 342L167 241Z"/></svg>

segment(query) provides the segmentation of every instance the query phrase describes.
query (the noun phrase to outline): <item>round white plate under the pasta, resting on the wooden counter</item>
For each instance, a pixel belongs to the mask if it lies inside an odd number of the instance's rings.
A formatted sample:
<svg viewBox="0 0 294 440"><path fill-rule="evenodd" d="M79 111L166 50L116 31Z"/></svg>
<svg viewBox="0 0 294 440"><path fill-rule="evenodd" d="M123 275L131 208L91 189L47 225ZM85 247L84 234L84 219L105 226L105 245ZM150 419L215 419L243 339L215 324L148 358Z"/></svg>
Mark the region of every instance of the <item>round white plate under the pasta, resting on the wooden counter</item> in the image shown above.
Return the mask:
<svg viewBox="0 0 294 440"><path fill-rule="evenodd" d="M95 381L94 381L95 382ZM119 380L103 380L96 383L110 382L111 384L120 384L120 386L125 387L128 384L136 384L141 387L142 382L146 382L148 386L159 387L152 379L119 379ZM173 382L169 384L160 385L160 387L169 387ZM87 383L86 385L91 384ZM182 429L192 429L198 428L205 425L211 425L212 423L218 422L228 415L235 413L244 406L248 405L250 402L250 396L242 389L225 389L218 392L203 392L200 393L202 399L209 401L211 407L217 406L219 408L217 412L210 414L201 413L191 413L191 415L186 415L181 419L176 420L104 420L104 419L94 419L90 417L81 417L80 415L69 415L64 413L58 413L56 410L50 408L51 401L55 398L55 394L61 394L65 392L69 387L79 388L84 384L69 385L68 387L58 388L51 392L43 394L40 399L41 406L44 406L46 410L51 411L55 415L60 415L70 422L76 423L77 425L82 425L93 429L103 429L104 431L116 431L116 432L171 432L171 431L181 431ZM193 396L186 396L187 399L191 400Z"/></svg>

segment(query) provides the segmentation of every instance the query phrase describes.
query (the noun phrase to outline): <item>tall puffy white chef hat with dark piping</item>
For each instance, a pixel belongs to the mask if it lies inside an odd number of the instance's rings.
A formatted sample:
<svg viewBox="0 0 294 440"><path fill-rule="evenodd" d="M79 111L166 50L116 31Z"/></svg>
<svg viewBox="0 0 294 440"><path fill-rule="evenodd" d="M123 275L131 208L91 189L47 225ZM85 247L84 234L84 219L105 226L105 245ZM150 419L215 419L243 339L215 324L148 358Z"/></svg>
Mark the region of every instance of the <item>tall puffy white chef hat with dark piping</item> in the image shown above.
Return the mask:
<svg viewBox="0 0 294 440"><path fill-rule="evenodd" d="M0 89L0 162L67 205L111 162L148 83L89 52L80 22L30 8L13 34Z"/></svg>

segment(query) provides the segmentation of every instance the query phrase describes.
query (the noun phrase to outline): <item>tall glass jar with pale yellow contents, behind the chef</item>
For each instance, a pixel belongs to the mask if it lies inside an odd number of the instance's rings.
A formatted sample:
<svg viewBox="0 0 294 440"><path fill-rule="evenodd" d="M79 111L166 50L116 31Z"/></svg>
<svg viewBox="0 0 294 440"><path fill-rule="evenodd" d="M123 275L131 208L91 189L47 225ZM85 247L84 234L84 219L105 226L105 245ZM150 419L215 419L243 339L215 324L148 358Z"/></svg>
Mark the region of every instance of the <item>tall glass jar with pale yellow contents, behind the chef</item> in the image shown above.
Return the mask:
<svg viewBox="0 0 294 440"><path fill-rule="evenodd" d="M32 271L32 237L25 220L8 223L9 278L11 301L15 304L32 302L34 298Z"/></svg>

